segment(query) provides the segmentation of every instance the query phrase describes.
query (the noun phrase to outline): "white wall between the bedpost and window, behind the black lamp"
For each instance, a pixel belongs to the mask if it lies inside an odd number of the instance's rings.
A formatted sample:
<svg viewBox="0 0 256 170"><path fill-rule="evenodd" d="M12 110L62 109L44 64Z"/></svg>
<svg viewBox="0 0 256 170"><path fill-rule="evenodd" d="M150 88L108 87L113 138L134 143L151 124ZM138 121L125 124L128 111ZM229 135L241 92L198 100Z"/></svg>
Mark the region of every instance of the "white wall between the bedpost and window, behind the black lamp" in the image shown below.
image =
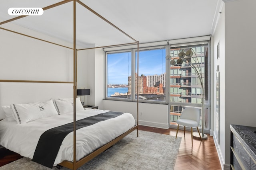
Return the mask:
<svg viewBox="0 0 256 170"><path fill-rule="evenodd" d="M102 100L105 94L104 64L105 57L102 48L78 51L77 86L90 89L90 95L82 96L82 100L85 98L85 105L96 105L99 109L103 109Z"/></svg>

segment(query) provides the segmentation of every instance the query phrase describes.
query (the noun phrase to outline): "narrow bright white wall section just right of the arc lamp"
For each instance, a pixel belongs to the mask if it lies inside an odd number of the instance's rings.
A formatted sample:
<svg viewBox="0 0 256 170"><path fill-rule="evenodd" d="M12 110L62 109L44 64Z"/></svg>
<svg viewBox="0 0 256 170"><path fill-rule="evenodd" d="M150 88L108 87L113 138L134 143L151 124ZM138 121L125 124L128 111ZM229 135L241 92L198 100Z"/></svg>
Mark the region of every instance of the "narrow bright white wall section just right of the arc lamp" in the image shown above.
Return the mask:
<svg viewBox="0 0 256 170"><path fill-rule="evenodd" d="M219 13L221 12L221 13ZM216 26L216 30L212 36L213 39L213 58L214 58L214 140L215 145L218 151L218 155L220 158L220 162L223 168L224 158L225 158L225 4L222 3L222 8L218 12L218 24ZM220 43L220 57L217 60L217 45ZM216 70L217 65L219 66L220 72L220 115L216 117ZM219 117L219 122L216 121ZM219 124L219 125L217 125ZM219 133L217 132L217 126L219 129ZM216 134L217 133L217 134ZM218 141L219 136L219 141Z"/></svg>

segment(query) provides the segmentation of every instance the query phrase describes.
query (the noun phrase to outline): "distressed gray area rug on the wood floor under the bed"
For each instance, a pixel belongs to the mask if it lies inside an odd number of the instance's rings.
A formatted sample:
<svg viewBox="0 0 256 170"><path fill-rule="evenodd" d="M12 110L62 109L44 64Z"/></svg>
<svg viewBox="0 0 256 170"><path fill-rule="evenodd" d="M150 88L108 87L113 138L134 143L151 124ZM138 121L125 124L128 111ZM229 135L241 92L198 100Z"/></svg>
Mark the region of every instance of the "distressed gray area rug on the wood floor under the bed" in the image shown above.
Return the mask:
<svg viewBox="0 0 256 170"><path fill-rule="evenodd" d="M172 170L177 158L181 138L152 133L133 131L113 147L90 160L79 170ZM54 170L58 170L56 167ZM0 170L50 170L21 158L0 167ZM62 167L61 170L68 170Z"/></svg>

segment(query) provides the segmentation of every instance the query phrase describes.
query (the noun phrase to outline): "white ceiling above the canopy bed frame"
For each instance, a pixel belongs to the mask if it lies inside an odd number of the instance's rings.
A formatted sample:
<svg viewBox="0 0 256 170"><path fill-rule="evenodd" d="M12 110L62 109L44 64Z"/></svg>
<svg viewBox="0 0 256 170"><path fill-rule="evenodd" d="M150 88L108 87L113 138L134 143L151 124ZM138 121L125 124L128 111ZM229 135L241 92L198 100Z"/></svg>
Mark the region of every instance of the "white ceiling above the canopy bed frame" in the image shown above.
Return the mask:
<svg viewBox="0 0 256 170"><path fill-rule="evenodd" d="M61 0L0 0L0 22L13 7L44 8ZM140 43L210 35L220 0L81 0ZM99 46L132 43L120 31L76 3L78 45ZM45 10L42 16L27 16L12 23L73 41L73 2ZM2 24L0 27L8 25Z"/></svg>

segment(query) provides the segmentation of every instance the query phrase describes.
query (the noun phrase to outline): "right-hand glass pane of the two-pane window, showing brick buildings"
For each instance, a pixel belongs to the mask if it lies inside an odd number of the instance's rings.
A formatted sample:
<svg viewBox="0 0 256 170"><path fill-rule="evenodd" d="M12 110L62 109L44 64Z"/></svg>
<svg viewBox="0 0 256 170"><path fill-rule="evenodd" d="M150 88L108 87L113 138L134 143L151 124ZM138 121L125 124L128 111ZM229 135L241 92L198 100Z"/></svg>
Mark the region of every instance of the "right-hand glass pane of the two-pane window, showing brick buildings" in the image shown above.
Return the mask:
<svg viewBox="0 0 256 170"><path fill-rule="evenodd" d="M137 54L136 51L135 68L137 68ZM139 80L137 81L137 76L135 77L136 83L139 83L139 100L165 101L165 57L165 48L139 51ZM137 70L135 70L135 72L137 72ZM135 93L137 94L136 88Z"/></svg>

